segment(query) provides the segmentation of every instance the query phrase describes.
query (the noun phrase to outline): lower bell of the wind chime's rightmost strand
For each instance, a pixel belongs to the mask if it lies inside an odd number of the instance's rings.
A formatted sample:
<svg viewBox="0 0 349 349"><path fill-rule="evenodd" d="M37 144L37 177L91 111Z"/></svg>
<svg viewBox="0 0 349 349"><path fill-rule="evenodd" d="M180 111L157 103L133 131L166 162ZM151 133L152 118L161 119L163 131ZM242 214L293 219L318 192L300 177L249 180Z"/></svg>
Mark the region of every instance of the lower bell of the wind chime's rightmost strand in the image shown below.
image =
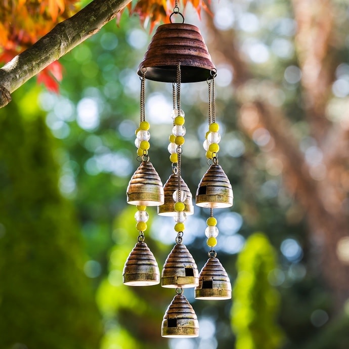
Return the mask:
<svg viewBox="0 0 349 349"><path fill-rule="evenodd" d="M195 298L205 300L230 299L232 285L220 260L208 258L199 274L199 286L195 287Z"/></svg>

